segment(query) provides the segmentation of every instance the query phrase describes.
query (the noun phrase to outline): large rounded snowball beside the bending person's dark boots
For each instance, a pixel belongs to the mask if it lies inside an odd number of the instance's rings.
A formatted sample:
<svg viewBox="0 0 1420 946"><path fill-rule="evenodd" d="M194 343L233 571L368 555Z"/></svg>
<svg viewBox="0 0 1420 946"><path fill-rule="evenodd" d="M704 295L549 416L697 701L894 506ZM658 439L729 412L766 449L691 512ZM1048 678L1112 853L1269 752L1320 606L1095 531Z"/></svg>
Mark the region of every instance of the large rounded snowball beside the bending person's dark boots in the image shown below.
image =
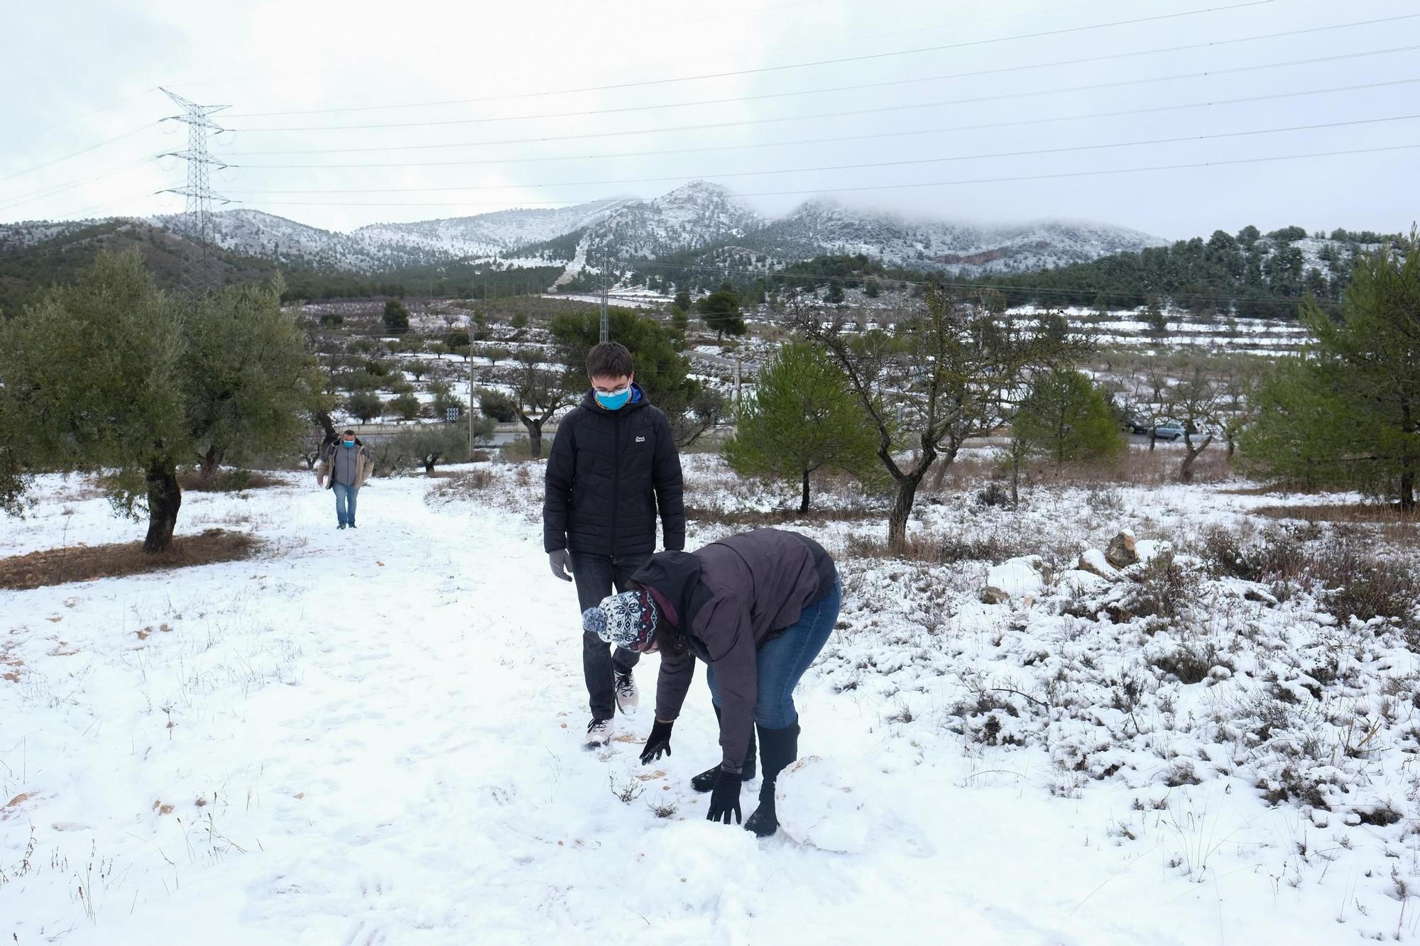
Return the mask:
<svg viewBox="0 0 1420 946"><path fill-rule="evenodd" d="M859 854L868 845L866 797L832 760L808 756L780 773L774 808L780 828L799 844L839 854Z"/></svg>

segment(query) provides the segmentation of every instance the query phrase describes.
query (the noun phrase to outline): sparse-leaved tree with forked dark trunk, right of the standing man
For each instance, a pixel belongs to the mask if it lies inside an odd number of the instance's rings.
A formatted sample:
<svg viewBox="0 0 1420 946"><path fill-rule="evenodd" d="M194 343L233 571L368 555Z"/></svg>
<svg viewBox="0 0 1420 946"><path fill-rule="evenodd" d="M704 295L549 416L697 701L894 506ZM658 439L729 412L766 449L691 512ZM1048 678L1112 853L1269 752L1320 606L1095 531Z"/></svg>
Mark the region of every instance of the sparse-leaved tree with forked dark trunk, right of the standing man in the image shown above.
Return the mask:
<svg viewBox="0 0 1420 946"><path fill-rule="evenodd" d="M888 544L907 541L917 487L940 457L956 460L970 437L985 436L1005 419L1031 372L1083 354L1085 344L1044 321L991 315L978 303L933 286L920 308L903 312L892 332L849 331L842 310L799 305L794 325L824 345L848 375L878 432L878 457L897 487L888 518ZM897 456L899 436L912 459Z"/></svg>

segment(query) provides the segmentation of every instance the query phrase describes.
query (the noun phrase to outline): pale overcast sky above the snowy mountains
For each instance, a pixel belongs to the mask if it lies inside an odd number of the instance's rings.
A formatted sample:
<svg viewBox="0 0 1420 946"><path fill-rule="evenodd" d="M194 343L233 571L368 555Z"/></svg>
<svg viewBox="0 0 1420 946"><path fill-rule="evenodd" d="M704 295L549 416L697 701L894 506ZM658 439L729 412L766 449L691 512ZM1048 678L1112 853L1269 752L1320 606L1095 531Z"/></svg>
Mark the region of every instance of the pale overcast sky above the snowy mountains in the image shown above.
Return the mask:
<svg viewBox="0 0 1420 946"><path fill-rule="evenodd" d="M212 175L229 206L337 230L697 178L770 213L825 193L1167 239L1409 230L1420 148L1393 148L1420 145L1420 50L1403 48L1420 47L1416 14L1414 0L9 4L0 222L182 210L153 193L186 182L158 158L187 142L158 121L176 111L163 85L230 105L210 141L231 165ZM1387 17L1406 18L1348 26ZM1365 124L1315 128L1336 122ZM351 125L365 128L332 128ZM1272 134L1238 135L1258 131ZM1183 141L1133 143L1164 138ZM1377 148L1393 151L1042 178Z"/></svg>

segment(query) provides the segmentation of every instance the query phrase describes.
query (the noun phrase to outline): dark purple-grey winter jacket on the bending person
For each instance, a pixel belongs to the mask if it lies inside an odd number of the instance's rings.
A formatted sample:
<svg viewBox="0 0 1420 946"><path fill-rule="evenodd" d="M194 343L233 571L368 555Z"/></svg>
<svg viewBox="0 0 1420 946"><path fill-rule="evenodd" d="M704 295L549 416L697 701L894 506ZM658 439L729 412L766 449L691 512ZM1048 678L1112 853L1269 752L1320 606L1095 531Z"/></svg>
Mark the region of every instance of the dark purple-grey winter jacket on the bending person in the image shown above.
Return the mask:
<svg viewBox="0 0 1420 946"><path fill-rule="evenodd" d="M656 717L680 714L700 658L714 668L720 687L724 766L741 768L754 732L757 652L834 589L834 560L807 535L757 528L694 553L657 553L632 581L670 605L673 632L689 645L679 656L660 648Z"/></svg>

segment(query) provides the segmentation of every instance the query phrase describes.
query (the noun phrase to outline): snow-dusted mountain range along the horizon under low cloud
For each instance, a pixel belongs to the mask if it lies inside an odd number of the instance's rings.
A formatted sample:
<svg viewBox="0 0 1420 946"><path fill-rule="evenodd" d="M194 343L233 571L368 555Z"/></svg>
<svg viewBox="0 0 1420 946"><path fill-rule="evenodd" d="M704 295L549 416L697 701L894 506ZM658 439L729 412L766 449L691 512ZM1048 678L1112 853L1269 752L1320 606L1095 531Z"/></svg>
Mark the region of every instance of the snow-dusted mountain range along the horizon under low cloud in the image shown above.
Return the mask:
<svg viewBox="0 0 1420 946"><path fill-rule="evenodd" d="M182 216L148 220L185 233ZM0 247L23 249L94 222L0 227ZM978 227L905 219L811 200L765 219L720 185L696 180L650 200L611 199L559 209L517 209L470 217L376 223L351 233L321 230L261 210L213 214L226 250L321 270L379 273L408 266L498 257L507 264L653 260L670 254L714 259L753 251L778 263L828 253L863 253L888 264L958 273L1028 271L1162 246L1145 233L1092 223ZM575 234L575 236L572 236ZM567 239L562 239L567 237ZM554 246L548 246L548 244ZM523 254L523 247L538 247ZM528 259L518 259L528 257Z"/></svg>

